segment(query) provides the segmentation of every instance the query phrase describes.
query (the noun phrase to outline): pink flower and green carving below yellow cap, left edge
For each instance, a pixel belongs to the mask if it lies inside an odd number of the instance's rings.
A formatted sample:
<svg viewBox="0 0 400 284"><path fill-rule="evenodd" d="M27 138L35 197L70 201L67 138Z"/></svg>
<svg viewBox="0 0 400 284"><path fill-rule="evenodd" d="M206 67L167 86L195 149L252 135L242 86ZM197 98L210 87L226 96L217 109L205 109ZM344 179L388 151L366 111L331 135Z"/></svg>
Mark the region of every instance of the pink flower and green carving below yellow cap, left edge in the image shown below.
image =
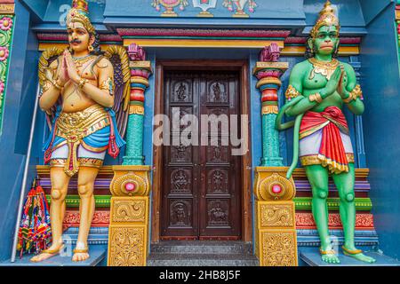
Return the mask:
<svg viewBox="0 0 400 284"><path fill-rule="evenodd" d="M12 44L12 29L13 15L0 14L0 132L3 125L4 97Z"/></svg>

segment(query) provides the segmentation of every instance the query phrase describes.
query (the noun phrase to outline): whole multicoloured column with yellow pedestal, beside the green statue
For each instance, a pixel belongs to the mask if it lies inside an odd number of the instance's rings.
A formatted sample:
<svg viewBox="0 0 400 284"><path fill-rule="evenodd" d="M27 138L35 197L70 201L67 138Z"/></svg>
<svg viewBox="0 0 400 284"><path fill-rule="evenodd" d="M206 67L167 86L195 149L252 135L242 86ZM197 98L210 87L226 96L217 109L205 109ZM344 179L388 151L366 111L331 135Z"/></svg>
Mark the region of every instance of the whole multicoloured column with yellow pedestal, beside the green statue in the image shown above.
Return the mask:
<svg viewBox="0 0 400 284"><path fill-rule="evenodd" d="M287 62L278 62L279 47L272 43L260 54L253 69L259 82L262 101L262 159L255 170L256 256L260 266L297 266L297 236L293 198L293 179L287 179L279 154L279 133L275 129L278 114L277 91Z"/></svg>

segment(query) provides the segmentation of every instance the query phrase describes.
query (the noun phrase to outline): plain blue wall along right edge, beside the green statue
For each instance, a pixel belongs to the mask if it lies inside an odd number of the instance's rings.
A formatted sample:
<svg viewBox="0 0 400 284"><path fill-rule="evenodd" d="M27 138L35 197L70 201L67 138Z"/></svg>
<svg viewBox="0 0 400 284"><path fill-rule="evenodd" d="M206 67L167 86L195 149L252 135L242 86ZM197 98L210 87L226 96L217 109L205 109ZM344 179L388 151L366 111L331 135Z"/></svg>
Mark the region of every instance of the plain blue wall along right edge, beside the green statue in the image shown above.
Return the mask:
<svg viewBox="0 0 400 284"><path fill-rule="evenodd" d="M380 4L380 12L376 6ZM364 1L368 17L361 44L364 138L380 249L400 258L400 75L393 1ZM382 10L383 9L383 10Z"/></svg>

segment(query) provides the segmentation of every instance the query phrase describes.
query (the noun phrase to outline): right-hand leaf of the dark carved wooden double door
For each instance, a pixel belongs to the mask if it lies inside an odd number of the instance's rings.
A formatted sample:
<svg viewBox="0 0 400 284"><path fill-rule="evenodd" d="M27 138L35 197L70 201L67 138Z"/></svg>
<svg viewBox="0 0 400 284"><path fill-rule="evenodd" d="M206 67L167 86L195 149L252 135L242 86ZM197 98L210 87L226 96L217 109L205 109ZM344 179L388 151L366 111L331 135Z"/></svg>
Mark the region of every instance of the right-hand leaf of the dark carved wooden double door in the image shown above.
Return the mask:
<svg viewBox="0 0 400 284"><path fill-rule="evenodd" d="M239 83L235 73L207 73L200 81L200 112L214 114L230 121L238 114ZM236 118L237 122L237 118ZM236 123L239 125L239 123ZM222 125L225 125L223 127ZM208 125L209 131L201 135L208 137L208 146L201 146L200 154L200 198L199 208L203 214L199 219L200 239L213 237L240 238L241 229L241 180L240 156L232 155L230 122ZM203 127L204 129L204 127ZM217 133L215 133L217 130ZM240 129L239 132L240 133ZM237 134L236 134L237 135Z"/></svg>

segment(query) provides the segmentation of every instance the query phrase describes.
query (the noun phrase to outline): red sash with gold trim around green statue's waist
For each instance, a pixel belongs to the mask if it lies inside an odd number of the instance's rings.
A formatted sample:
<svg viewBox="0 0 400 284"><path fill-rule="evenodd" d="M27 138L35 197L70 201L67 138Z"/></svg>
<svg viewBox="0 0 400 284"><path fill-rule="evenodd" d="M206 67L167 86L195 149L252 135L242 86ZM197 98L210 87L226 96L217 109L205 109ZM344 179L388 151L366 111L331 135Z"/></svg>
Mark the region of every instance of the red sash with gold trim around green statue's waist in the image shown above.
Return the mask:
<svg viewBox="0 0 400 284"><path fill-rule="evenodd" d="M340 130L348 134L348 123L341 109L328 106L322 113L308 111L300 124L300 138L305 138L317 130L323 130L318 159L333 173L348 172L348 158L341 140Z"/></svg>

